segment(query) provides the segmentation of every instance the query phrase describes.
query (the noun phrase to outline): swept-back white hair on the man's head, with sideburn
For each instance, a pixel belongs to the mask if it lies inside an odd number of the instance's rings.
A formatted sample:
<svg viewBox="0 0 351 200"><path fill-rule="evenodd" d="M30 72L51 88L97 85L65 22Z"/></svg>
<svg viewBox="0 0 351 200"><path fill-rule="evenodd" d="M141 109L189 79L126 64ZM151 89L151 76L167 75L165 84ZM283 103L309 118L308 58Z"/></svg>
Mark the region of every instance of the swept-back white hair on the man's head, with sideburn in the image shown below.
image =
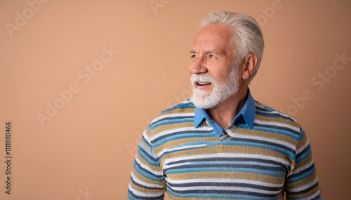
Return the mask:
<svg viewBox="0 0 351 200"><path fill-rule="evenodd" d="M244 61L245 57L251 53L257 56L258 62L256 69L248 79L248 83L251 83L251 80L256 76L258 68L260 67L263 48L265 48L260 25L253 17L245 13L234 13L225 10L208 14L201 20L200 27L202 28L212 24L224 25L234 29L232 44L234 48L234 64L236 66L239 66L239 64Z"/></svg>

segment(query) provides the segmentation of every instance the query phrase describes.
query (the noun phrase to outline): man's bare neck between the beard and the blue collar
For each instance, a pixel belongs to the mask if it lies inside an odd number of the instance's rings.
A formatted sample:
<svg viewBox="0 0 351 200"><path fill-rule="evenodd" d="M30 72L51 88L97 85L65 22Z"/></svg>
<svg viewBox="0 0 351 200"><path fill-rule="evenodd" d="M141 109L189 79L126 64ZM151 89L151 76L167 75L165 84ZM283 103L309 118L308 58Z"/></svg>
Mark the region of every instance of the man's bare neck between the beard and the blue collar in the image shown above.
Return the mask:
<svg viewBox="0 0 351 200"><path fill-rule="evenodd" d="M218 103L214 108L207 109L206 112L211 120L217 122L217 124L219 124L220 127L223 127L223 129L230 127L234 117L240 113L241 108L246 102L247 89L247 86L241 87L232 97Z"/></svg>

